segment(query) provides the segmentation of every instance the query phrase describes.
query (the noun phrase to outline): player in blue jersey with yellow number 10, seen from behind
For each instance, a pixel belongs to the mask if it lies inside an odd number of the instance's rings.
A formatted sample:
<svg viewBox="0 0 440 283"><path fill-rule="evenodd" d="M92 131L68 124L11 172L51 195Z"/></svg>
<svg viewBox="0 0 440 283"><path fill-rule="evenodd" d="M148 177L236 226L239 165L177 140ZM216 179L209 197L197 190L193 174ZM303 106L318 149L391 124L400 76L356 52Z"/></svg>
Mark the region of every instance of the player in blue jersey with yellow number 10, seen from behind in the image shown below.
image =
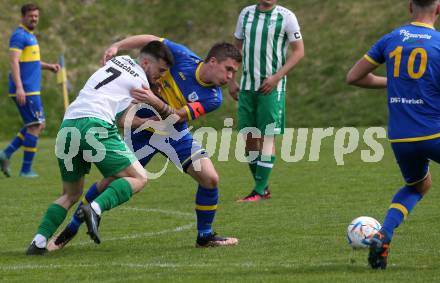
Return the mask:
<svg viewBox="0 0 440 283"><path fill-rule="evenodd" d="M385 269L394 230L431 187L429 160L440 162L438 0L412 0L412 22L383 36L347 74L347 82L388 90L388 138L406 184L394 195L368 263ZM386 65L386 77L372 72Z"/></svg>

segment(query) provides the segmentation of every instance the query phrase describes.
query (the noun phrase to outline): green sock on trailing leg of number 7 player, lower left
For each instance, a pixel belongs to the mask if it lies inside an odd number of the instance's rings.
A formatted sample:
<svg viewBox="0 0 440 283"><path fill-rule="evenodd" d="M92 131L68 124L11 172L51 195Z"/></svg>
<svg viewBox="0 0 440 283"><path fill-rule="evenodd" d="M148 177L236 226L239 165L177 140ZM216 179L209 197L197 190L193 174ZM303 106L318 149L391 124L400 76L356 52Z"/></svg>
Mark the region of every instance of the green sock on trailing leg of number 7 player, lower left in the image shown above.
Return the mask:
<svg viewBox="0 0 440 283"><path fill-rule="evenodd" d="M66 215L67 209L59 204L52 203L47 208L47 212L41 220L37 234L43 235L46 239L49 239L63 223Z"/></svg>

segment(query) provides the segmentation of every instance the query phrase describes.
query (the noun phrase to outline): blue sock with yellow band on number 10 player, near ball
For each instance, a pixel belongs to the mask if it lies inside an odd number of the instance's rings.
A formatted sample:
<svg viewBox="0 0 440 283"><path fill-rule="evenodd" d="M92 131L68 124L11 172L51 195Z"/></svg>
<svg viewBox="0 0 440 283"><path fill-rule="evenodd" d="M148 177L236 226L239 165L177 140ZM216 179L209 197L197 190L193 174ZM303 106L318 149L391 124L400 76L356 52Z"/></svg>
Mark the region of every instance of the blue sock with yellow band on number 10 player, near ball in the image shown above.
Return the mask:
<svg viewBox="0 0 440 283"><path fill-rule="evenodd" d="M386 236L391 240L396 229L412 211L422 195L416 189L405 186L393 197L382 226Z"/></svg>

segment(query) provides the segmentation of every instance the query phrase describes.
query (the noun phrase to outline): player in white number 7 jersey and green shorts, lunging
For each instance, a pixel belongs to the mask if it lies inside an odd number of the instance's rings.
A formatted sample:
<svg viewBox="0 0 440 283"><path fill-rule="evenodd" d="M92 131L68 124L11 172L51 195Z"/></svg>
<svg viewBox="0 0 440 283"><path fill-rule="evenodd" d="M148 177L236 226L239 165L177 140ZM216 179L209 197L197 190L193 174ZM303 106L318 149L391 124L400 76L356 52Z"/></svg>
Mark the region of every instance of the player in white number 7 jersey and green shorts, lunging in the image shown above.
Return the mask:
<svg viewBox="0 0 440 283"><path fill-rule="evenodd" d="M147 182L142 165L126 147L115 125L118 112L133 102L132 88L156 82L173 64L173 55L161 42L153 41L141 49L138 61L119 56L96 71L69 106L57 135L55 151L63 180L63 195L49 205L38 231L27 250L28 255L42 255L47 240L64 221L67 211L82 195L84 175L94 163L104 176L97 186L106 187L91 204L82 206L80 214L87 223L88 234L100 243L100 215L139 192ZM151 92L137 95L149 102Z"/></svg>

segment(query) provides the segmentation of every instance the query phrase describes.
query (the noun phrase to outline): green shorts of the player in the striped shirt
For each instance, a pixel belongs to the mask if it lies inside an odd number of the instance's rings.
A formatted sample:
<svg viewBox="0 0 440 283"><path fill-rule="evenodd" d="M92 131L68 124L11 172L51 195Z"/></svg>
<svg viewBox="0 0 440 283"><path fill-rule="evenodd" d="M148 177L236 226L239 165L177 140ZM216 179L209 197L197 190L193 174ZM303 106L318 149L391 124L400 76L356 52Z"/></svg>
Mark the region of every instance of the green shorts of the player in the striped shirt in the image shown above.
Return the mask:
<svg viewBox="0 0 440 283"><path fill-rule="evenodd" d="M284 134L286 92L273 90L268 95L258 91L240 91L238 129L257 128L261 135Z"/></svg>

